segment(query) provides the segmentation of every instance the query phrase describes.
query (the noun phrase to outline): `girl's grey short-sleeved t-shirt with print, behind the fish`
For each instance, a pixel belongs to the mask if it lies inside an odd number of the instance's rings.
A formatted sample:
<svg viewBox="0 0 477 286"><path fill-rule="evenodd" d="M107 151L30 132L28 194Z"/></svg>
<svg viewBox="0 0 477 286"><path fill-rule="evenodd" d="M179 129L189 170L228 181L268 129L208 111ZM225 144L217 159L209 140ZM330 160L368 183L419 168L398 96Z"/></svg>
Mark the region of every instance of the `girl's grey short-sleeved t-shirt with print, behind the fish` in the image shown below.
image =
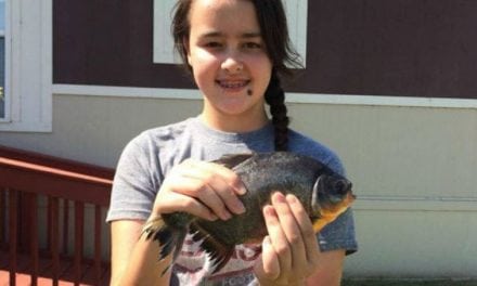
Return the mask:
<svg viewBox="0 0 477 286"><path fill-rule="evenodd" d="M215 160L224 154L272 152L271 123L248 133L229 133L205 126L198 117L142 132L125 147L113 184L106 221L146 220L164 178L186 158ZM344 174L339 158L324 145L291 130L289 152L308 155ZM358 248L349 209L318 235L322 251ZM206 253L189 236L173 266L171 285L246 285L260 255L259 245L240 245L228 264L214 275Z"/></svg>

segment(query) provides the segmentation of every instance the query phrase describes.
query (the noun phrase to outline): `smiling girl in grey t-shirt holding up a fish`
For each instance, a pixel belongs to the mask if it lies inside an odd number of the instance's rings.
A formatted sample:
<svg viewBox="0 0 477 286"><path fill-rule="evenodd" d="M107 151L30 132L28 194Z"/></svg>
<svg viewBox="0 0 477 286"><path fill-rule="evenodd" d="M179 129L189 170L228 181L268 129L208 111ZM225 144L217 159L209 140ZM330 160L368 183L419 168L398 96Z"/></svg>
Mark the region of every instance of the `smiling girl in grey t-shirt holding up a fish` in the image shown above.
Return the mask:
<svg viewBox="0 0 477 286"><path fill-rule="evenodd" d="M240 178L210 160L280 150L344 172L333 152L287 127L280 76L297 57L280 0L179 0L172 28L176 48L204 95L203 110L147 130L124 150L107 217L112 285L339 285L345 253L357 248L351 212L318 239L296 197L280 193L263 208L269 235L261 245L237 246L212 275L206 255L186 238L162 275L170 258L158 261L157 243L141 236L147 219L186 211L228 220L247 211L237 198L246 192Z"/></svg>

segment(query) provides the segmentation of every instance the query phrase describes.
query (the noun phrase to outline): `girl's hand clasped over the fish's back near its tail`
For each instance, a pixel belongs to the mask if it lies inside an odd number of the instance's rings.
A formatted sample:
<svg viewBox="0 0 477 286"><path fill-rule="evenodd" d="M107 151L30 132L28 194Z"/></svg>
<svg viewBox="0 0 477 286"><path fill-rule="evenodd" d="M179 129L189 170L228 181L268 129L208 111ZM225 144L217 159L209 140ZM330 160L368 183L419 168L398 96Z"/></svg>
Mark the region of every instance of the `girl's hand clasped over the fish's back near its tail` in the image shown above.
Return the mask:
<svg viewBox="0 0 477 286"><path fill-rule="evenodd" d="M228 220L245 211L237 195L245 194L241 179L214 162L184 160L172 168L157 193L153 213L184 211L203 219Z"/></svg>

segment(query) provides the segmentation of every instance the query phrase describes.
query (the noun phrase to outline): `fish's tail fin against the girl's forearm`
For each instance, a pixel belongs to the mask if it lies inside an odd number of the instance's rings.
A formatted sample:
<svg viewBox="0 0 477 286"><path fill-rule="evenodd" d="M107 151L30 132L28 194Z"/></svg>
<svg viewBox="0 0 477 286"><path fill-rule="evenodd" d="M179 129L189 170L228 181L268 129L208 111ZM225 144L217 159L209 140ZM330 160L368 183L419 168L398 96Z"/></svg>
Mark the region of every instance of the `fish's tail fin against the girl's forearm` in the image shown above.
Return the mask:
<svg viewBox="0 0 477 286"><path fill-rule="evenodd" d="M162 273L162 275L164 275L179 256L185 235L188 234L188 230L172 229L164 223L164 220L160 217L157 217L145 223L142 234L145 235L145 239L152 238L153 240L158 242L160 248L159 261L165 259L173 251L171 263L167 265Z"/></svg>

